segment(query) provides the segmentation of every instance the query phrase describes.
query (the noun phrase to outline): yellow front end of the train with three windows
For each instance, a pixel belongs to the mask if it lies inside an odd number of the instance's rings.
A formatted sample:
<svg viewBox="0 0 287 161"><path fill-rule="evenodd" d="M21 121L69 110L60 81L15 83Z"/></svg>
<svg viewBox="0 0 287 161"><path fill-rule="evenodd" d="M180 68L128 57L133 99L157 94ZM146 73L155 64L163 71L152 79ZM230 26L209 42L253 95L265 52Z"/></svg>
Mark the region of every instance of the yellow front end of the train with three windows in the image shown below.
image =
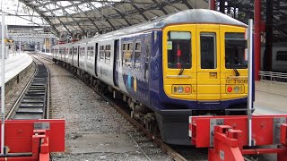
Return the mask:
<svg viewBox="0 0 287 161"><path fill-rule="evenodd" d="M163 87L171 98L222 101L247 97L245 28L178 24L163 29Z"/></svg>

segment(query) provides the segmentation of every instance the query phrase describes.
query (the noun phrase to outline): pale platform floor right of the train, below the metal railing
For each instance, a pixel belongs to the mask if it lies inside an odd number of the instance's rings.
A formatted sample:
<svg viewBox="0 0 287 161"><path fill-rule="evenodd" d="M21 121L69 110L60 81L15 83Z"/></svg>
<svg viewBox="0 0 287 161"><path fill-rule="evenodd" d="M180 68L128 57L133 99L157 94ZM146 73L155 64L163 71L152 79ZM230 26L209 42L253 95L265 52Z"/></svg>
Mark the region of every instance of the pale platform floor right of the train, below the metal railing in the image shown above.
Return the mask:
<svg viewBox="0 0 287 161"><path fill-rule="evenodd" d="M254 114L287 114L287 83L260 80L255 89Z"/></svg>

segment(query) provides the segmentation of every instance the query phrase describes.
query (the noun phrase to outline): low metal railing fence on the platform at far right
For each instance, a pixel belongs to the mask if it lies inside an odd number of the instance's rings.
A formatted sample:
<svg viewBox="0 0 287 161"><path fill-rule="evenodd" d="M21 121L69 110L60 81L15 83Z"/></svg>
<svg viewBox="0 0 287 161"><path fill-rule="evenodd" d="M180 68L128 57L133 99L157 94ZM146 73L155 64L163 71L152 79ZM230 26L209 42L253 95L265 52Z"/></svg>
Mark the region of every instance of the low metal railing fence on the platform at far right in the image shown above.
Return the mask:
<svg viewBox="0 0 287 161"><path fill-rule="evenodd" d="M259 71L261 80L287 82L287 73Z"/></svg>

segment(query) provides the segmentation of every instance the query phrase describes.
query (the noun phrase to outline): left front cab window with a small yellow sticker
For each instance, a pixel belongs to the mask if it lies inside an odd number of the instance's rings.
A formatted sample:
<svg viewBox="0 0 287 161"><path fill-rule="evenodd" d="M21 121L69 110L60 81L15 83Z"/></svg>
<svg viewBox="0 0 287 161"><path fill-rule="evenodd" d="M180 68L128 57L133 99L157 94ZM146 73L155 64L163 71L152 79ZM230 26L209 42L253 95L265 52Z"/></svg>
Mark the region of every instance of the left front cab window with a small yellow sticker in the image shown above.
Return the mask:
<svg viewBox="0 0 287 161"><path fill-rule="evenodd" d="M168 33L168 67L191 68L191 33L170 31Z"/></svg>

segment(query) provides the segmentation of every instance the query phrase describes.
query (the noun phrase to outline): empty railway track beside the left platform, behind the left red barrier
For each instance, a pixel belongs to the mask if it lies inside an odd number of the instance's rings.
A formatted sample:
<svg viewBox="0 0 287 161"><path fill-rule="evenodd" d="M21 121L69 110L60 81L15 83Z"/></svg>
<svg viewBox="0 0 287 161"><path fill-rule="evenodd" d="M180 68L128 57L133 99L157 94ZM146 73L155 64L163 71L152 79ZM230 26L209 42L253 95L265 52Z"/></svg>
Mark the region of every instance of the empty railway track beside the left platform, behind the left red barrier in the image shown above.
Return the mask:
<svg viewBox="0 0 287 161"><path fill-rule="evenodd" d="M45 64L33 57L36 70L7 114L6 120L48 119L49 71Z"/></svg>

